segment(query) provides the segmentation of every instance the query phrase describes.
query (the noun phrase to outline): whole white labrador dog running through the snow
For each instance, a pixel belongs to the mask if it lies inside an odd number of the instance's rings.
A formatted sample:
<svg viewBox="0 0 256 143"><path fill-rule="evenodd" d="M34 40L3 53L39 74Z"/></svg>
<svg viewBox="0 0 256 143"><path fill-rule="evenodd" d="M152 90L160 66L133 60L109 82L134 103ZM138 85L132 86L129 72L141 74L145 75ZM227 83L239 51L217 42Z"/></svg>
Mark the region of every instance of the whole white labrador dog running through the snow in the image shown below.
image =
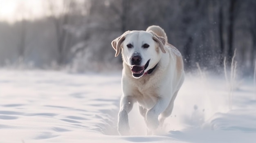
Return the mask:
<svg viewBox="0 0 256 143"><path fill-rule="evenodd" d="M137 102L150 134L171 115L184 81L182 55L167 43L166 33L159 26L150 26L146 31L126 31L111 44L115 56L121 50L124 66L118 132L130 134L128 113Z"/></svg>

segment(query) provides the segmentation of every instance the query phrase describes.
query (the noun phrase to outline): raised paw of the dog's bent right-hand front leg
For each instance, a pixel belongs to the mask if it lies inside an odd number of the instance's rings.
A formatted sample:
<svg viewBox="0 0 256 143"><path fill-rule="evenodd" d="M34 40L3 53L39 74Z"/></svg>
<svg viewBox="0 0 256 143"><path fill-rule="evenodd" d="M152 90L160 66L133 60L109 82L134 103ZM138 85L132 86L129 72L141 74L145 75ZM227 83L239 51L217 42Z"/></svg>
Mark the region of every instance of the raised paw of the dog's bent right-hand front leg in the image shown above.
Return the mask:
<svg viewBox="0 0 256 143"><path fill-rule="evenodd" d="M146 114L147 127L149 130L156 130L159 126L158 116L150 112Z"/></svg>

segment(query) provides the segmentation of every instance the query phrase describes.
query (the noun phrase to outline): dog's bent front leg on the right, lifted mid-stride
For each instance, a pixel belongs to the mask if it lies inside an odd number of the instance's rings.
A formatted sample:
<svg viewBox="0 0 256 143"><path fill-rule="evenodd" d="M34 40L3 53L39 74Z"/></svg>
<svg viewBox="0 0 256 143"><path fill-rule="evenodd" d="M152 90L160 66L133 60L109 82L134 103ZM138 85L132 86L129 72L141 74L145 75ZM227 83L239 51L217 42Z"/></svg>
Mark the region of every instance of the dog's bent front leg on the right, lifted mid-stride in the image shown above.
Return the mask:
<svg viewBox="0 0 256 143"><path fill-rule="evenodd" d="M146 113L146 120L147 120L147 127L149 130L155 130L157 129L159 125L158 116L160 113L164 112L164 110L167 108L169 101L158 97L157 102L155 103L155 106L148 110Z"/></svg>

